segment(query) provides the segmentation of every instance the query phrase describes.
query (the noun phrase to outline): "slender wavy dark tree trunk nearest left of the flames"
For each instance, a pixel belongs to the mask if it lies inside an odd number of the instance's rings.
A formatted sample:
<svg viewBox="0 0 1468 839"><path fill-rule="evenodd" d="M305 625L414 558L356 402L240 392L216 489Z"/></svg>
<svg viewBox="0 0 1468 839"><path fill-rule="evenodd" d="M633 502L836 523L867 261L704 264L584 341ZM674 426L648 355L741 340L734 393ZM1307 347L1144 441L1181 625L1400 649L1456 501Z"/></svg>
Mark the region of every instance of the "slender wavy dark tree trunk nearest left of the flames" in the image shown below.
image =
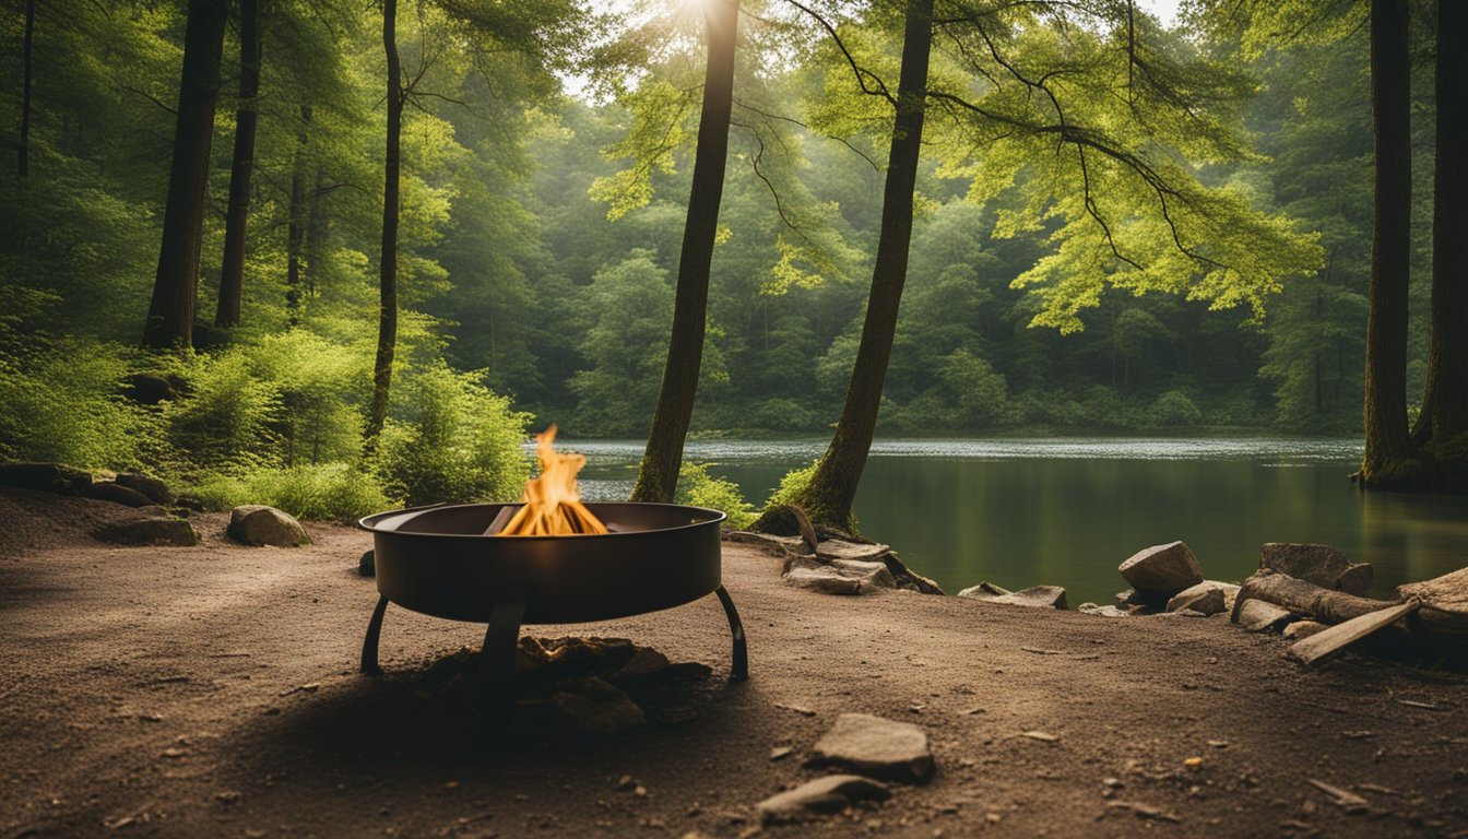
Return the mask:
<svg viewBox="0 0 1468 839"><path fill-rule="evenodd" d="M398 0L383 0L382 46L388 53L388 154L382 187L382 270L377 314L377 359L371 375L367 447L376 445L388 422L392 359L398 350L398 204L402 170L402 59L398 56Z"/></svg>

